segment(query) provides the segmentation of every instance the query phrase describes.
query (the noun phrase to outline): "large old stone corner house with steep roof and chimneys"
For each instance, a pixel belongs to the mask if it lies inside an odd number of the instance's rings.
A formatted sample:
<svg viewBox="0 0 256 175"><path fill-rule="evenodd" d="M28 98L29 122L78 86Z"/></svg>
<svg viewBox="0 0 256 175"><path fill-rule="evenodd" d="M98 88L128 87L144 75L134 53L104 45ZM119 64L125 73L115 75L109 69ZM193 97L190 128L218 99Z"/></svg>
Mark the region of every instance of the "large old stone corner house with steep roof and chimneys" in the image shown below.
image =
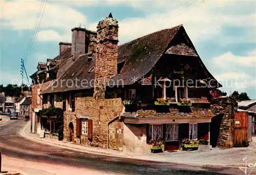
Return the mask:
<svg viewBox="0 0 256 175"><path fill-rule="evenodd" d="M38 64L31 76L34 113L62 108L64 140L119 151L148 152L156 140L170 151L179 149L182 139L211 140L210 122L217 115L211 111L211 92L221 85L184 27L119 46L118 28L110 14L97 32L72 29L72 43L44 66ZM44 118L35 120L37 128L49 130Z"/></svg>

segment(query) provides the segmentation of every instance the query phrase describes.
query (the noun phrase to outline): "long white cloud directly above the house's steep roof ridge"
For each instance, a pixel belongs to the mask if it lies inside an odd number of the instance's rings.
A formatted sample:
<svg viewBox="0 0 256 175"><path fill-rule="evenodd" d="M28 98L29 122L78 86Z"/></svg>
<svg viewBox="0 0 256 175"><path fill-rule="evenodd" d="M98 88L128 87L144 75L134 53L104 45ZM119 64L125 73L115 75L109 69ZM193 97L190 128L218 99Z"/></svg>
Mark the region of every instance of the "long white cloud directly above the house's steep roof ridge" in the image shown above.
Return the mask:
<svg viewBox="0 0 256 175"><path fill-rule="evenodd" d="M166 8L170 7L170 9L172 9L174 7L174 9L164 12L154 11L153 13L151 12L142 17L129 17L119 20L120 43L131 41L146 34L174 27L179 24L184 25L188 36L193 42L215 39L215 36L223 34L224 26L242 28L252 27L252 30L250 31L251 36L253 36L255 31L255 12L249 14L233 12L222 14L225 9L221 9L221 11L219 8L216 8L219 7L219 5L222 5L230 9L240 6L240 4L222 1L197 1L193 4L190 3L189 5L180 4L180 7L178 8L177 6L168 6L168 3L165 5ZM96 30L97 22L98 21L91 23L89 29ZM247 33L248 36L250 36L250 34ZM236 36L230 36L229 40L232 40L232 42L236 41ZM223 40L221 42L225 43ZM227 40L227 42L229 41Z"/></svg>

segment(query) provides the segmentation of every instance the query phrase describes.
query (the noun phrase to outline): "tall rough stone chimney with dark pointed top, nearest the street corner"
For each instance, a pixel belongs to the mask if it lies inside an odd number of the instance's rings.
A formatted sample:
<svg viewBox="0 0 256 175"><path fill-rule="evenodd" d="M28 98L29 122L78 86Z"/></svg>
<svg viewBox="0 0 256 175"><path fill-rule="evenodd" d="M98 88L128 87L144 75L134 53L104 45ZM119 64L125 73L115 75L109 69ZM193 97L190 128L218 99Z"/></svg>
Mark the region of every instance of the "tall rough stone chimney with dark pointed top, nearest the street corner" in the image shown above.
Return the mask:
<svg viewBox="0 0 256 175"><path fill-rule="evenodd" d="M110 13L97 26L94 97L105 97L106 81L117 74L118 21Z"/></svg>

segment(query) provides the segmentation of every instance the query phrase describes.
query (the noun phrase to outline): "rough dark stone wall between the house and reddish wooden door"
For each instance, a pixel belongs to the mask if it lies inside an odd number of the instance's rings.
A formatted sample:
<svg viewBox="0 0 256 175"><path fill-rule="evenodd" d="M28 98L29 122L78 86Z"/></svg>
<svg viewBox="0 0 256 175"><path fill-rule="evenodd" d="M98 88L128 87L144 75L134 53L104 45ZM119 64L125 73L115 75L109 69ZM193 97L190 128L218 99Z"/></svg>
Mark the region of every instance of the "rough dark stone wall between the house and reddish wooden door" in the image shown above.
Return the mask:
<svg viewBox="0 0 256 175"><path fill-rule="evenodd" d="M233 115L237 103L233 103L229 98L217 98L211 103L211 111L215 115L223 115L217 146L223 148L233 147Z"/></svg>

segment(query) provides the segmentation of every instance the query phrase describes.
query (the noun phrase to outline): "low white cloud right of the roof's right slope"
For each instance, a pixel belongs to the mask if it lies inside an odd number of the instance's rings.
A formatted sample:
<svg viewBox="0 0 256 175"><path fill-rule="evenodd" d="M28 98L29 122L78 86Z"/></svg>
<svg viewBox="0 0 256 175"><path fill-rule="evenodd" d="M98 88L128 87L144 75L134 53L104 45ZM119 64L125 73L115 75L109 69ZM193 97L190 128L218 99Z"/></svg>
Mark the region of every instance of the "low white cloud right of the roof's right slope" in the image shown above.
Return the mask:
<svg viewBox="0 0 256 175"><path fill-rule="evenodd" d="M254 93L252 89L256 88L255 51L249 51L245 56L227 52L210 59L210 62L211 73L223 85L222 90L226 92L249 90Z"/></svg>

